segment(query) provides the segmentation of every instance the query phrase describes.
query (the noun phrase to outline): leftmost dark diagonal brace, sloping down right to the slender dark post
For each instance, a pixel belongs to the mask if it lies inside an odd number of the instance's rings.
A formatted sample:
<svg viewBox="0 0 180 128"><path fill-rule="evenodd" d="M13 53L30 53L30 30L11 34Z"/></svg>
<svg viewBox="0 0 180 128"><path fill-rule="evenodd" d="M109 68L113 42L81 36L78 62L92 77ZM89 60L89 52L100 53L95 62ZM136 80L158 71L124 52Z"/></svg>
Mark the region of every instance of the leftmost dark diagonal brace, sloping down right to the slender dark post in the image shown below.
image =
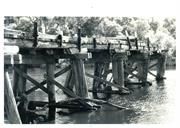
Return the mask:
<svg viewBox="0 0 180 128"><path fill-rule="evenodd" d="M23 76L24 78L26 78L27 80L29 80L31 83L33 83L35 86L37 86L38 88L40 88L41 90L43 90L44 92L51 93L47 90L47 88L45 88L44 86L42 86L40 83L38 83L36 80L34 80L33 78L31 78L29 75L27 75L26 73L21 72L18 68L13 67L13 69L20 75Z"/></svg>

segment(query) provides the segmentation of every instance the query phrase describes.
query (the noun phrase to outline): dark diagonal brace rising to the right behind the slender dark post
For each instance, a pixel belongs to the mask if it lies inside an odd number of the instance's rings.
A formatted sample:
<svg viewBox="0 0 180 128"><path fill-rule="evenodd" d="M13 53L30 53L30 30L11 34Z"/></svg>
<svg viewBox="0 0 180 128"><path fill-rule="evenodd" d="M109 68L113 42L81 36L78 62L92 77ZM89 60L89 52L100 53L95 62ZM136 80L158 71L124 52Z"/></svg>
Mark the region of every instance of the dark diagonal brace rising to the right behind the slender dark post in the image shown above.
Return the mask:
<svg viewBox="0 0 180 128"><path fill-rule="evenodd" d="M69 66L63 68L62 70L60 70L59 72L55 73L54 77L56 78L56 77L58 77L58 76L60 76L60 75L62 75L64 73L66 73L70 69L71 69L71 66L69 65ZM46 80L42 81L40 84L42 86L45 85L46 84ZM33 91L37 90L38 88L39 88L38 86L34 86L34 87L30 88L29 90L27 90L25 93L26 93L26 95L29 95L30 93L32 93Z"/></svg>

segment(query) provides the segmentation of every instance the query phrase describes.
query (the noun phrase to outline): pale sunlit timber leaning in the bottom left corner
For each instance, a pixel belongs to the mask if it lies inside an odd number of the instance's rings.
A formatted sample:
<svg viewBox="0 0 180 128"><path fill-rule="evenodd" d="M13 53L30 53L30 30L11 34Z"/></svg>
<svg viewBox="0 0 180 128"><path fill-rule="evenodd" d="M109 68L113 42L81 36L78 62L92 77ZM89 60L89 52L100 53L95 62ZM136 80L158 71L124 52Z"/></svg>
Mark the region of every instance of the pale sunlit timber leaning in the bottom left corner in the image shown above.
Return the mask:
<svg viewBox="0 0 180 128"><path fill-rule="evenodd" d="M8 72L4 72L4 109L11 124L21 124Z"/></svg>

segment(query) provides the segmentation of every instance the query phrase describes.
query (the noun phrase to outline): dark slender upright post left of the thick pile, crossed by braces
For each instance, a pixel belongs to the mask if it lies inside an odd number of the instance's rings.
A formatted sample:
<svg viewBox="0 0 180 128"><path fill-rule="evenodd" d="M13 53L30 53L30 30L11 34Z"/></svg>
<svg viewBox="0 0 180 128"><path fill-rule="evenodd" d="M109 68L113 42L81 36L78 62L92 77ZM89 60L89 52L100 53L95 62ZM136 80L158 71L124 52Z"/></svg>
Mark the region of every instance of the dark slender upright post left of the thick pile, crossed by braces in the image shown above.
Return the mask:
<svg viewBox="0 0 180 128"><path fill-rule="evenodd" d="M54 64L46 64L47 76L50 77L51 79L54 79L54 66L55 66ZM51 92L48 94L49 103L56 103L55 86L51 81L48 80L48 78L47 78L47 88L48 91ZM54 106L50 106L48 113L48 120L49 121L55 120L55 114L56 114L56 108Z"/></svg>

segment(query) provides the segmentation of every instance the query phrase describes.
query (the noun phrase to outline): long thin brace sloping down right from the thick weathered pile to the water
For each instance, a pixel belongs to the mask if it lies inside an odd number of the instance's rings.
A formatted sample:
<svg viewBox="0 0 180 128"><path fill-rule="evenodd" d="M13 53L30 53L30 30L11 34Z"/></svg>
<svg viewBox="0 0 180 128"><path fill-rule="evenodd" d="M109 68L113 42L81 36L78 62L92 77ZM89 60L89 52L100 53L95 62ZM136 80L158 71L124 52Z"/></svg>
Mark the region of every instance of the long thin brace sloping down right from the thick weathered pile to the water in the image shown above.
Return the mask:
<svg viewBox="0 0 180 128"><path fill-rule="evenodd" d="M93 78L93 79L96 79L97 81L106 83L106 84L108 84L108 85L110 85L110 86L116 87L116 88L118 88L118 89L122 89L122 90L125 90L125 91L129 91L129 89L126 88L126 87L121 87L121 86L119 86L119 85L117 85L117 84L114 84L114 83L111 83L111 82L109 82L109 81L103 80L103 79L101 79L101 78L99 78L99 77L97 77L97 76L93 76L93 75L91 75L91 74L89 74L89 73L87 73L87 72L86 72L86 76L91 77L91 78Z"/></svg>

